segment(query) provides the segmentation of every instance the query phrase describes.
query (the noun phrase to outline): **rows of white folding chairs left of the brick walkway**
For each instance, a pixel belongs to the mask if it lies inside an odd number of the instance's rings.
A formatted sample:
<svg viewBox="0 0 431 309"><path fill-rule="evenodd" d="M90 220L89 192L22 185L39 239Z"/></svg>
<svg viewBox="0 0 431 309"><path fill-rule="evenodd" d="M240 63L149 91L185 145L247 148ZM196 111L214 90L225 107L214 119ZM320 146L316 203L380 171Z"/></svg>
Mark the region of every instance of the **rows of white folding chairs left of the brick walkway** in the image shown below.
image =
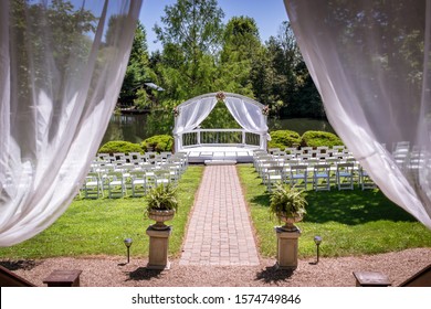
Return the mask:
<svg viewBox="0 0 431 309"><path fill-rule="evenodd" d="M109 199L144 196L154 187L168 182L178 183L188 167L186 153L170 154L164 161L115 161L97 157L82 187L82 194L87 199L107 195Z"/></svg>

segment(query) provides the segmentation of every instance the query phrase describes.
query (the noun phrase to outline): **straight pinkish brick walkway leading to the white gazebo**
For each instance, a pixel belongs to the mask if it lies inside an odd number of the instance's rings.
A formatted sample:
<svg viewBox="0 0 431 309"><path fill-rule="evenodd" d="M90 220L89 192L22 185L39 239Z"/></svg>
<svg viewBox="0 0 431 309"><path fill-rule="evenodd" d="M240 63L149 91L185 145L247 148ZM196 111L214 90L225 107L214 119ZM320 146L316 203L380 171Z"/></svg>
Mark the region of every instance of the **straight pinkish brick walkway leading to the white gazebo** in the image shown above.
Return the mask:
<svg viewBox="0 0 431 309"><path fill-rule="evenodd" d="M180 265L259 265L234 166L206 167Z"/></svg>

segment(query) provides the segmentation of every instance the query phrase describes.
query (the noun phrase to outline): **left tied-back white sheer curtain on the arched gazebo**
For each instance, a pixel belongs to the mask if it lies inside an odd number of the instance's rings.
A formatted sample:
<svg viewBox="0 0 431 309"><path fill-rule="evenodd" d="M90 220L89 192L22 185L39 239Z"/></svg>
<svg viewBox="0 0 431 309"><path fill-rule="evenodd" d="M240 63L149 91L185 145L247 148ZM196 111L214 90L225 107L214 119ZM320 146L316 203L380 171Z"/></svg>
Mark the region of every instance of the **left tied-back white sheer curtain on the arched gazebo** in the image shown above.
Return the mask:
<svg viewBox="0 0 431 309"><path fill-rule="evenodd" d="M177 107L178 116L175 119L174 136L176 138L176 150L180 149L180 135L191 131L198 127L217 104L216 95L202 98L192 98Z"/></svg>

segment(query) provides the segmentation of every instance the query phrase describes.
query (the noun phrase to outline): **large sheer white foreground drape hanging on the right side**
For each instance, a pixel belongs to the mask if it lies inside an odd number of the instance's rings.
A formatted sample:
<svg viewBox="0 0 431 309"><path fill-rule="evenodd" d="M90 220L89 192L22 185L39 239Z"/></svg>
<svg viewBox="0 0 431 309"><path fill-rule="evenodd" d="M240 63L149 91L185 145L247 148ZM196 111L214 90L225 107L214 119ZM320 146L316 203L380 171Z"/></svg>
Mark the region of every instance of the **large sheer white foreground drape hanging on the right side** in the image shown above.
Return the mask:
<svg viewBox="0 0 431 309"><path fill-rule="evenodd" d="M431 228L431 1L284 2L332 126Z"/></svg>

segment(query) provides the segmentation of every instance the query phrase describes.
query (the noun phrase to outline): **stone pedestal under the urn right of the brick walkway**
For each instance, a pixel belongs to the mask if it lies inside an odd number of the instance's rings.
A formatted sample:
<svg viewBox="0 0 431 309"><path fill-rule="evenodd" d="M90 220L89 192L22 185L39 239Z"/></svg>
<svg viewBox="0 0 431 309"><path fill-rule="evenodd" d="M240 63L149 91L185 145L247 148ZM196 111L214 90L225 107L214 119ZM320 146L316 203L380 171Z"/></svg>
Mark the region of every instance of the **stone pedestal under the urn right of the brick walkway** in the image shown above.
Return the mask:
<svg viewBox="0 0 431 309"><path fill-rule="evenodd" d="M295 270L297 267L297 239L301 236L299 228L284 231L276 226L274 230L277 236L277 269Z"/></svg>

